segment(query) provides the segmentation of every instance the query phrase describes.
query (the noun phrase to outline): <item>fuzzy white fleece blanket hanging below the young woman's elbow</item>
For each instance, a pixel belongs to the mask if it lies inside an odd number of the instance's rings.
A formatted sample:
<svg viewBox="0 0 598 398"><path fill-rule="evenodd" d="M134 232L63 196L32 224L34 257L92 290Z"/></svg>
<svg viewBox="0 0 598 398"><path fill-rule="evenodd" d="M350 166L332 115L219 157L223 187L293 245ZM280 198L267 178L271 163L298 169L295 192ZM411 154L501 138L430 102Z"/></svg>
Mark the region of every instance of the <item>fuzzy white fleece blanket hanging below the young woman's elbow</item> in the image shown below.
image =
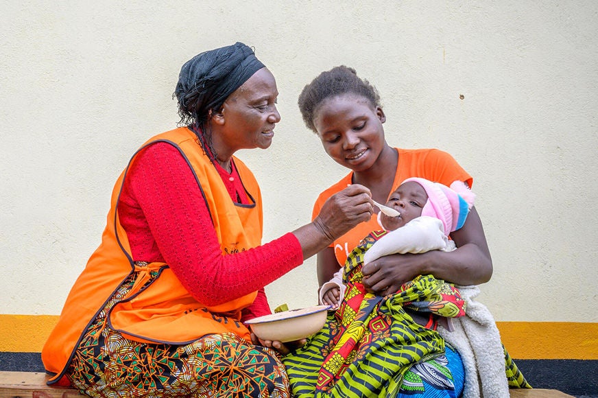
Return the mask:
<svg viewBox="0 0 598 398"><path fill-rule="evenodd" d="M438 326L440 336L461 355L465 367L464 398L509 398L505 353L494 317L475 301L477 286L457 286L467 303L466 316L453 319L453 331Z"/></svg>

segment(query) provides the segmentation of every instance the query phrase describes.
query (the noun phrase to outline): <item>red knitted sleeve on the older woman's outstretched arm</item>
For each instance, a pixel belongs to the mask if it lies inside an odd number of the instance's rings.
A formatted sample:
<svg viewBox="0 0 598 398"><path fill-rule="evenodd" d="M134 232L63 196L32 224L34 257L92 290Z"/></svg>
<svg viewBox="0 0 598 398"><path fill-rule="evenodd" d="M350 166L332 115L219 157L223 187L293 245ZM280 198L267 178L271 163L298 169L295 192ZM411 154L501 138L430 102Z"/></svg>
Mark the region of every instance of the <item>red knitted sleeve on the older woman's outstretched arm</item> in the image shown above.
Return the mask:
<svg viewBox="0 0 598 398"><path fill-rule="evenodd" d="M260 290L303 261L292 233L223 255L193 172L169 143L152 144L137 155L119 199L119 219L133 259L165 261L205 305Z"/></svg>

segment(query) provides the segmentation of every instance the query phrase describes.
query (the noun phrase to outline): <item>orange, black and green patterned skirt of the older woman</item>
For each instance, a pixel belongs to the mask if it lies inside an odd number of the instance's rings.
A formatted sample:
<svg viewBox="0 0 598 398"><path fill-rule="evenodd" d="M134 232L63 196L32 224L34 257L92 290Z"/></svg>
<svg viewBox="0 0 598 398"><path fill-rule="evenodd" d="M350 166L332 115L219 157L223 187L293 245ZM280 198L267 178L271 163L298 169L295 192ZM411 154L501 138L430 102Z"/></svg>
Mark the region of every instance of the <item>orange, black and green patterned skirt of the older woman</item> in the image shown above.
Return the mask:
<svg viewBox="0 0 598 398"><path fill-rule="evenodd" d="M171 345L128 340L110 329L106 314L135 277L121 285L84 333L67 371L75 388L91 397L290 396L278 353L233 333Z"/></svg>

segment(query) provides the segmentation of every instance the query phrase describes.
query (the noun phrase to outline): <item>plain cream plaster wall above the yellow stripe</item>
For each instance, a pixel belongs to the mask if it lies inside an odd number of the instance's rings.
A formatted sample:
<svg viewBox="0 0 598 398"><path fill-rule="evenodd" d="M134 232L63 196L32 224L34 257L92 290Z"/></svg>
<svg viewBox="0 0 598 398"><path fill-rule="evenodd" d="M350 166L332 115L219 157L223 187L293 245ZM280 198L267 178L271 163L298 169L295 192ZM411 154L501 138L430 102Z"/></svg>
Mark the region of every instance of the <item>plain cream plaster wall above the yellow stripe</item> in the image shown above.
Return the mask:
<svg viewBox="0 0 598 398"><path fill-rule="evenodd" d="M441 148L475 177L497 320L598 321L597 2L1 1L0 19L0 314L60 312L115 178L176 126L180 66L239 40L280 91L272 147L238 153L266 241L346 173L296 106L345 64L381 92L391 145ZM316 285L309 259L267 293L301 307Z"/></svg>

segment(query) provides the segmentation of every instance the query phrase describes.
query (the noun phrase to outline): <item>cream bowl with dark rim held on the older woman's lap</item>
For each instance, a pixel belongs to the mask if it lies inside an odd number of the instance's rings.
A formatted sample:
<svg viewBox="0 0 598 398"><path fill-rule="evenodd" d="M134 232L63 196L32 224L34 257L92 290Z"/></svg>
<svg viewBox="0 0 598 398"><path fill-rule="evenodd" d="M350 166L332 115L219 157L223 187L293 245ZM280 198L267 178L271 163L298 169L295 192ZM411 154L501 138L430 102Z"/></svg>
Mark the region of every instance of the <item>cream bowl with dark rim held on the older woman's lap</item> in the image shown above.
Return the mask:
<svg viewBox="0 0 598 398"><path fill-rule="evenodd" d="M326 322L328 308L330 305L291 309L259 316L246 324L262 340L295 341L320 331Z"/></svg>

